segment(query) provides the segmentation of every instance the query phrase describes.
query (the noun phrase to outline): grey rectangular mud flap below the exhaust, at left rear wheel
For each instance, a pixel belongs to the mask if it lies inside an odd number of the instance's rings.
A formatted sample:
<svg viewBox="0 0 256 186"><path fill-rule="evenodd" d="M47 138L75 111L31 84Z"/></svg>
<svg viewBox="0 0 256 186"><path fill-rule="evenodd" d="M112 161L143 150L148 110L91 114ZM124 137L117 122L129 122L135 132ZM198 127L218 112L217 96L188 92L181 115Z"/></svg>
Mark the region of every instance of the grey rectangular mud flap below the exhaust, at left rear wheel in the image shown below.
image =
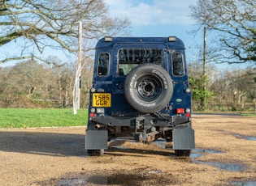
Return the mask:
<svg viewBox="0 0 256 186"><path fill-rule="evenodd" d="M85 149L99 150L107 149L107 130L86 130Z"/></svg>

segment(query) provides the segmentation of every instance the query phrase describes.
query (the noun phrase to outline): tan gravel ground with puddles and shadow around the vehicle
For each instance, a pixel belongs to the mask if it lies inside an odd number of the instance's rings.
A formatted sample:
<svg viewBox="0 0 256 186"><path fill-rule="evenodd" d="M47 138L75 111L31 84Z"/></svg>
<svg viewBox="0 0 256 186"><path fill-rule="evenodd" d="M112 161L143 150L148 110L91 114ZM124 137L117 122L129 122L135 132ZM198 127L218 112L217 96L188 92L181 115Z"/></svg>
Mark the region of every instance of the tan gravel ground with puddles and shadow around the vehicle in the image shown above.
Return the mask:
<svg viewBox="0 0 256 186"><path fill-rule="evenodd" d="M1 185L256 185L256 118L194 115L196 149L119 139L102 157L84 150L85 127L0 129Z"/></svg>

